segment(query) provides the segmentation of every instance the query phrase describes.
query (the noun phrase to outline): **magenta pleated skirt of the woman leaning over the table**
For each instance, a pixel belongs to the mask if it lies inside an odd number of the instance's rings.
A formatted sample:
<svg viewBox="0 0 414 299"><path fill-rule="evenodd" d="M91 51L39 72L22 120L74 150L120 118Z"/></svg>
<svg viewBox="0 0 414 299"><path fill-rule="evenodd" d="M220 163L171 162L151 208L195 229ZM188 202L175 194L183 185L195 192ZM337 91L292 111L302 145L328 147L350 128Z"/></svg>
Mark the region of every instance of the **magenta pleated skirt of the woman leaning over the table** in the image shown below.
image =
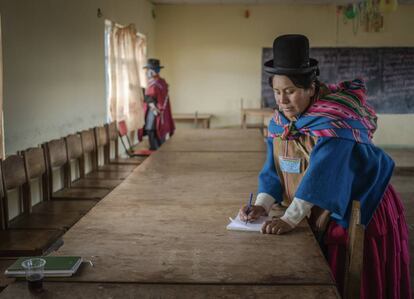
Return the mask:
<svg viewBox="0 0 414 299"><path fill-rule="evenodd" d="M343 293L347 230L332 221L325 236L328 262ZM361 298L411 298L408 229L404 208L388 185L365 230Z"/></svg>

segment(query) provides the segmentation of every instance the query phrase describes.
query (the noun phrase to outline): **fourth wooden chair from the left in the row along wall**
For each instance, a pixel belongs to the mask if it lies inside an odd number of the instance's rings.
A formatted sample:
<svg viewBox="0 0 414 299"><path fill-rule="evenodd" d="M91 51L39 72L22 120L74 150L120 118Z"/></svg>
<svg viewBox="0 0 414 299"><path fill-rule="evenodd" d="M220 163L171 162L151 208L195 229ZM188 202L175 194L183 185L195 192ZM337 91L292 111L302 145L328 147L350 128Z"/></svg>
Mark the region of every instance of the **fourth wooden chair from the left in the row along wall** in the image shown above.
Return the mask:
<svg viewBox="0 0 414 299"><path fill-rule="evenodd" d="M92 132L85 131L86 134L92 134L91 137L93 137ZM82 134L72 134L65 137L65 144L66 144L66 150L68 155L68 161L69 161L69 187L70 188L98 188L98 189L108 189L112 190L116 186L118 186L121 183L121 180L115 179L115 180L108 180L108 179L87 179L85 178L85 168L86 168L86 162L85 162L85 151L84 147L82 146ZM86 140L87 138L85 138ZM86 143L86 141L85 141ZM85 144L87 154L90 154L94 152L94 141L91 140L90 144L92 146L89 146L88 144ZM91 155L93 156L94 153ZM70 167L70 164L74 163L76 166L79 167L79 177L75 176L75 174L72 173L72 167ZM94 163L94 162L93 162Z"/></svg>

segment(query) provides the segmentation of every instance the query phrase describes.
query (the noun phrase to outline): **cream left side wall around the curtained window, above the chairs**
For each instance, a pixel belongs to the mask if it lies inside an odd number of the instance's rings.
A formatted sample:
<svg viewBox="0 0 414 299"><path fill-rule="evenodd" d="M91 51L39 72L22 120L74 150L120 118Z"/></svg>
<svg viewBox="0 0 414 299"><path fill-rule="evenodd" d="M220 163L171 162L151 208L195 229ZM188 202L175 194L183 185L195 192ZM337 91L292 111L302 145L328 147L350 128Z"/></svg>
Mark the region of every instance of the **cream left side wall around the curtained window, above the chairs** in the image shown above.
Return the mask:
<svg viewBox="0 0 414 299"><path fill-rule="evenodd" d="M146 0L0 0L6 154L103 124L104 20L135 23L151 54L152 8Z"/></svg>

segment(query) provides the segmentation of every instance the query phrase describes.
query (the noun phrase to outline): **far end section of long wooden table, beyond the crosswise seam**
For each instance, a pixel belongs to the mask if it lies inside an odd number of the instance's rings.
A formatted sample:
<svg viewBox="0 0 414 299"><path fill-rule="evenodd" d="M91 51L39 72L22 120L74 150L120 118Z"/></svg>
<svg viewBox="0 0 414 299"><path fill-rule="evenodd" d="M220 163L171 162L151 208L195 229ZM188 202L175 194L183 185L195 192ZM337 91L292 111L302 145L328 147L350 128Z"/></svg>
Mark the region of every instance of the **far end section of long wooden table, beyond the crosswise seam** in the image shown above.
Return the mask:
<svg viewBox="0 0 414 299"><path fill-rule="evenodd" d="M160 151L265 152L266 145L257 129L182 129Z"/></svg>

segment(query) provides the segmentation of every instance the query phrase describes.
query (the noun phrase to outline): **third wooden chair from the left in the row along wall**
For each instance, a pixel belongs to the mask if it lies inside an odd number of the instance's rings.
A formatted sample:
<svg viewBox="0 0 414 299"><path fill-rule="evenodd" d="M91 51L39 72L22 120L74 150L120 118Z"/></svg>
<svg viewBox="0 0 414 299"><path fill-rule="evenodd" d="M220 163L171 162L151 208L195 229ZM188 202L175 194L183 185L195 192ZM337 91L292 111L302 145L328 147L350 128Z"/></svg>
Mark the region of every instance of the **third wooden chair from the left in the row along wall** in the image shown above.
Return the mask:
<svg viewBox="0 0 414 299"><path fill-rule="evenodd" d="M69 160L63 138L49 141L44 144L47 161L49 195L51 199L88 199L100 200L110 190L97 188L70 188L69 187ZM59 171L63 176L63 186L54 191L54 172Z"/></svg>

